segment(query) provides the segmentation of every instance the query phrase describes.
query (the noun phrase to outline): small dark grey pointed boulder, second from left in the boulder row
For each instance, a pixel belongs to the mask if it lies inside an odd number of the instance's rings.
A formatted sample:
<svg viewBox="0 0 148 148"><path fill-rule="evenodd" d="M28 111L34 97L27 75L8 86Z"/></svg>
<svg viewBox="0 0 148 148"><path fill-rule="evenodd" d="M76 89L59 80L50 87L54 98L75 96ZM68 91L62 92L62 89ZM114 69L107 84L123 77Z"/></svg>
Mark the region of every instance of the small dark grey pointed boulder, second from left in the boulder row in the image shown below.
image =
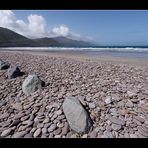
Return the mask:
<svg viewBox="0 0 148 148"><path fill-rule="evenodd" d="M7 77L9 79L16 78L21 75L21 71L17 66L11 65L7 71Z"/></svg>

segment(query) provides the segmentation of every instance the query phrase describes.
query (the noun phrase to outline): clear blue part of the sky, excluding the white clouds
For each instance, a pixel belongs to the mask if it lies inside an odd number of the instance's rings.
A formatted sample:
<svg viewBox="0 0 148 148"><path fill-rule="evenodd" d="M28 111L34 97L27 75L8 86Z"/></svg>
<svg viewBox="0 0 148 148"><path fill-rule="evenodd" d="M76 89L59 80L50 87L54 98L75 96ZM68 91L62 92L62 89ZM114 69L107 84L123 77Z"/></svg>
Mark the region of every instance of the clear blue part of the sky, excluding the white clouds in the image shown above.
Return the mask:
<svg viewBox="0 0 148 148"><path fill-rule="evenodd" d="M16 19L25 23L31 14L42 16L46 30L65 25L71 34L91 39L99 45L148 45L146 10L13 10L13 13Z"/></svg>

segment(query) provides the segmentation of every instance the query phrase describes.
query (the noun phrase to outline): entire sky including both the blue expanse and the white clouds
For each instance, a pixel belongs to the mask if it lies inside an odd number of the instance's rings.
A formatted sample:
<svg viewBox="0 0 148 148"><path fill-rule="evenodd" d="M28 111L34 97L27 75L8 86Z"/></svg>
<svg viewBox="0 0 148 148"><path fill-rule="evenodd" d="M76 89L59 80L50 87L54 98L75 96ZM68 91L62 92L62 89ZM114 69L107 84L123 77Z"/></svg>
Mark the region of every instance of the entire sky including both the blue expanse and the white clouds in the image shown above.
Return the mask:
<svg viewBox="0 0 148 148"><path fill-rule="evenodd" d="M0 10L0 27L29 38L65 36L101 46L148 45L148 10Z"/></svg>

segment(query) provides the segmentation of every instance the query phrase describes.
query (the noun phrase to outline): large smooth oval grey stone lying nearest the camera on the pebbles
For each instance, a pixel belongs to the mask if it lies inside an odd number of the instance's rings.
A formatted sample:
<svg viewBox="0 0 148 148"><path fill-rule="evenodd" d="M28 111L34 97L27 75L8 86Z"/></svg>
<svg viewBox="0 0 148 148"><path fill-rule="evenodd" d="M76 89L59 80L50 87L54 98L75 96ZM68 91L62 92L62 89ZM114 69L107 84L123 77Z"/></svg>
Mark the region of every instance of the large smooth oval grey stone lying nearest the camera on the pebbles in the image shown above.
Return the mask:
<svg viewBox="0 0 148 148"><path fill-rule="evenodd" d="M63 111L71 127L77 133L85 133L92 126L92 120L76 97L67 97Z"/></svg>

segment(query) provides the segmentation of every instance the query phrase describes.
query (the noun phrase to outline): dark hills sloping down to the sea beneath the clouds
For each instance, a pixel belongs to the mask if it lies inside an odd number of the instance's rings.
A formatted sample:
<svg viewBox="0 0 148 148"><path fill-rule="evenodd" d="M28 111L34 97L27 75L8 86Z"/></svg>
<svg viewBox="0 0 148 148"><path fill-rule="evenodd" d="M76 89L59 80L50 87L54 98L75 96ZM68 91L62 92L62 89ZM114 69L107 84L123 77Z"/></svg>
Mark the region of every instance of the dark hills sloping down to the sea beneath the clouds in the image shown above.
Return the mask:
<svg viewBox="0 0 148 148"><path fill-rule="evenodd" d="M29 39L10 29L0 27L0 47L88 47L93 44L66 37Z"/></svg>

